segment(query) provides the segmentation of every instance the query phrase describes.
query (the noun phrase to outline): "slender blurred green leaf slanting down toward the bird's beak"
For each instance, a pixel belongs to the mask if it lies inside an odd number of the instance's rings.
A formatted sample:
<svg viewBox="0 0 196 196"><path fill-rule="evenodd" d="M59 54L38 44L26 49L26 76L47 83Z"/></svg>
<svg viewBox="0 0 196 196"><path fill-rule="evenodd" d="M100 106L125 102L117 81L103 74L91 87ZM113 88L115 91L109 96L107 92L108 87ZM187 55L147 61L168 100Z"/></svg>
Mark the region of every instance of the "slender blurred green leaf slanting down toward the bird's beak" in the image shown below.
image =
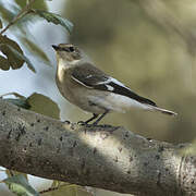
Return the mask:
<svg viewBox="0 0 196 196"><path fill-rule="evenodd" d="M21 37L22 42L36 56L39 57L46 64L51 65L50 60L44 50L39 48L38 45L27 39L26 37Z"/></svg>

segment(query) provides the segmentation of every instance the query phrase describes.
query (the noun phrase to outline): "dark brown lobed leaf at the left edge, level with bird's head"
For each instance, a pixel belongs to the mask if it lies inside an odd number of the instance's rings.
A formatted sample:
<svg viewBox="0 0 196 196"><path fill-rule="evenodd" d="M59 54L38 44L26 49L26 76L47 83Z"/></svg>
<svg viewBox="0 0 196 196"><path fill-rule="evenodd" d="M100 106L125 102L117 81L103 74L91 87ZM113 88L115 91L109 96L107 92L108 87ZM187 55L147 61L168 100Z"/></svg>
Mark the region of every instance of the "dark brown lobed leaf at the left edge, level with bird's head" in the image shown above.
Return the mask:
<svg viewBox="0 0 196 196"><path fill-rule="evenodd" d="M0 35L0 50L2 51L3 54L7 56L9 64L10 64L10 66L12 69L14 69L14 70L20 69L23 65L24 60L19 59L17 57L15 57L15 54L10 50L10 48L8 46L11 46L19 53L23 54L23 50L17 45L17 42L15 42L14 40L8 38L7 36Z"/></svg>

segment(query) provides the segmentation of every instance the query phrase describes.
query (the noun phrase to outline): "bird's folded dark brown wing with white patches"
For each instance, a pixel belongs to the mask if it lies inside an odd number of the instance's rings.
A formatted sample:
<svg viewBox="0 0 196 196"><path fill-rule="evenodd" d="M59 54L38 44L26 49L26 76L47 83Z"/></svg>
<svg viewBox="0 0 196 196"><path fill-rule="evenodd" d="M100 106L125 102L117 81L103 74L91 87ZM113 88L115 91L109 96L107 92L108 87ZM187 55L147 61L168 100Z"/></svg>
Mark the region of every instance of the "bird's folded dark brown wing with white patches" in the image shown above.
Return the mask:
<svg viewBox="0 0 196 196"><path fill-rule="evenodd" d="M118 95L126 96L142 103L156 106L154 101L138 96L121 82L108 76L89 63L74 68L72 78L87 88L111 91Z"/></svg>

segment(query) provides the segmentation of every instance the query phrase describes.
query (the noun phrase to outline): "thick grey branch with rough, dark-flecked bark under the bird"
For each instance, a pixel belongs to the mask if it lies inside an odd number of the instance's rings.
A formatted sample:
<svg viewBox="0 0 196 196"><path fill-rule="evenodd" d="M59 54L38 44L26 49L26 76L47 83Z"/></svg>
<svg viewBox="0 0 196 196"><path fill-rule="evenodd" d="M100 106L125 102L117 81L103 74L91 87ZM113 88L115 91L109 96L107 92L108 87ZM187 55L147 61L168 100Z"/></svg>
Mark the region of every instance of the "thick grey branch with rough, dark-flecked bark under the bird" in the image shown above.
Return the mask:
<svg viewBox="0 0 196 196"><path fill-rule="evenodd" d="M184 145L147 139L123 127L85 126L0 100L0 166L135 195L196 195L196 157Z"/></svg>

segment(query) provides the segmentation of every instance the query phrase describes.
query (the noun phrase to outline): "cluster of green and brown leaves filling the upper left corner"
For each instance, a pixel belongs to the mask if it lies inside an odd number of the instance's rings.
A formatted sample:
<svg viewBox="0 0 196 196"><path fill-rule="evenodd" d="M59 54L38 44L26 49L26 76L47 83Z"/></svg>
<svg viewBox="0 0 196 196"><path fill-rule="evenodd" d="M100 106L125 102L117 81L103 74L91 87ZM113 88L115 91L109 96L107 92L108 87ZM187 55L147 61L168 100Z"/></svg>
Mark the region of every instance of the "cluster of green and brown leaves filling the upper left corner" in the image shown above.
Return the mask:
<svg viewBox="0 0 196 196"><path fill-rule="evenodd" d="M11 7L11 9L9 8ZM37 10L39 9L39 10ZM56 25L63 26L69 33L72 32L73 24L66 19L61 17L59 14L54 14L47 11L46 0L15 0L11 4L4 0L0 0L0 28L2 24L5 24L4 28L0 32L0 51L7 56L0 56L0 69L13 70L22 68L26 62L29 70L35 72L34 65L29 59L24 54L20 45L4 36L3 34L9 29L11 33L21 39L21 42L26 49L36 54L46 64L50 64L50 61L45 51L33 40L30 32L28 32L27 25L34 21L34 19L45 19L47 22L51 22ZM12 26L16 27L16 32L12 32Z"/></svg>

